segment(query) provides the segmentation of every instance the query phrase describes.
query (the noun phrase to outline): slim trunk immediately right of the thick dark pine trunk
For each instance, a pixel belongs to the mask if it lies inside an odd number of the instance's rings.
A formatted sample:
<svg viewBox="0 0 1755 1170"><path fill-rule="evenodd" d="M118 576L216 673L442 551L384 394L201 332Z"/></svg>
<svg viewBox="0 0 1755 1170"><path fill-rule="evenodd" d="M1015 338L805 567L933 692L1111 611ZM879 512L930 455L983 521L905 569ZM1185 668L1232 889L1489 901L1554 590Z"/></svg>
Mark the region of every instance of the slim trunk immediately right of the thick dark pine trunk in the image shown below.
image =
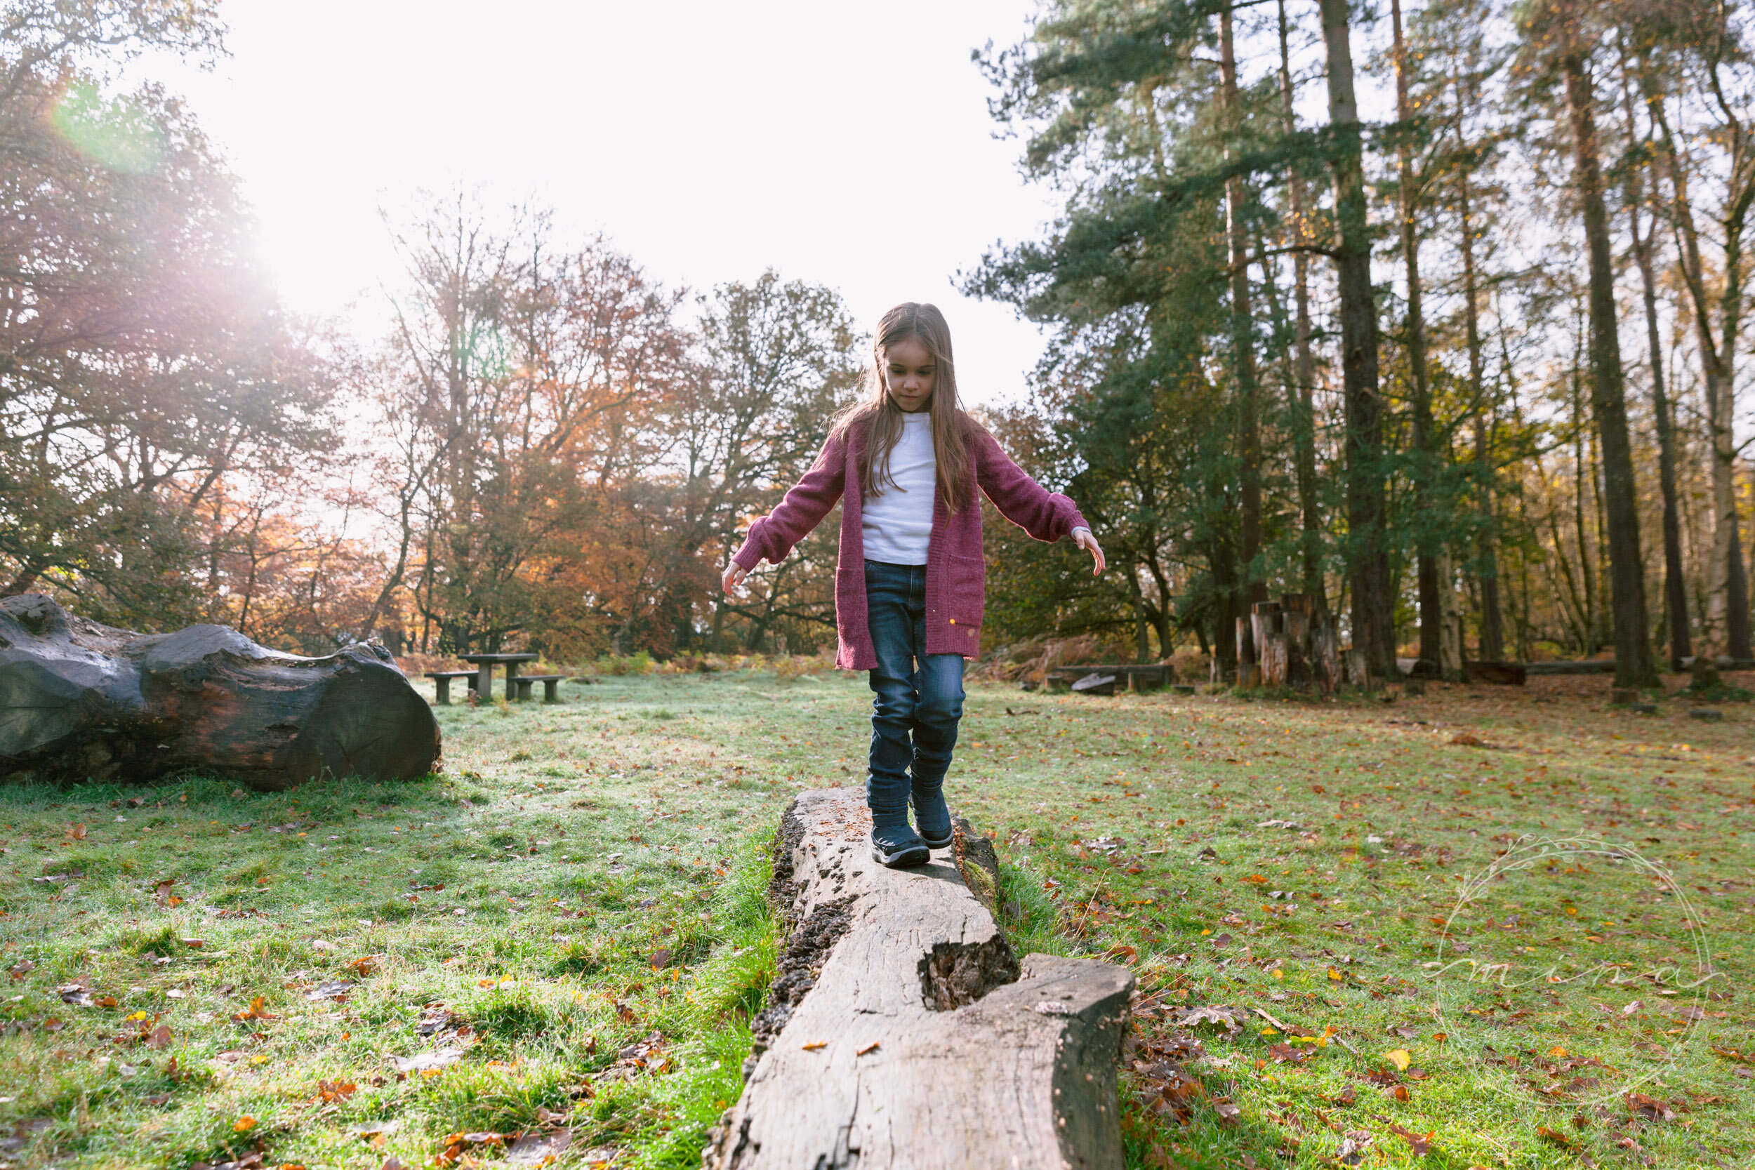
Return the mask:
<svg viewBox="0 0 1755 1170"><path fill-rule="evenodd" d="M1413 119L1413 102L1408 96L1408 46L1402 40L1402 0L1390 0L1390 30L1393 33L1395 56L1395 119L1406 123ZM1402 230L1402 261L1408 268L1408 367L1413 374L1413 416L1415 416L1415 502L1420 509L1416 526L1415 575L1420 582L1420 661L1430 663L1439 675L1444 674L1444 605L1443 589L1448 581L1439 581L1437 542L1430 528L1436 519L1437 502L1432 495L1432 477L1437 460L1437 435L1432 419L1432 386L1427 377L1425 349L1425 314L1422 310L1420 284L1420 230L1415 223L1415 158L1406 139L1397 158L1397 209ZM1418 670L1418 667L1415 667Z"/></svg>

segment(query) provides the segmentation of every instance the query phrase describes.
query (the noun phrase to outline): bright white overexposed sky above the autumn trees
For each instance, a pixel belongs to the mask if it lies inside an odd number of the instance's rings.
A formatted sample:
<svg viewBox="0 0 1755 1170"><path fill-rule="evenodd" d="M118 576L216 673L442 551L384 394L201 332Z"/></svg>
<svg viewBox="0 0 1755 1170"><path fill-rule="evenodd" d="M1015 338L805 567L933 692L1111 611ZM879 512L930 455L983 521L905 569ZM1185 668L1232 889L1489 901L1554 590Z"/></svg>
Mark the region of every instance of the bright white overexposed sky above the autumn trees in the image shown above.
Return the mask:
<svg viewBox="0 0 1755 1170"><path fill-rule="evenodd" d="M286 303L376 330L398 267L379 209L419 189L534 198L670 284L774 267L841 289L870 328L944 309L969 402L1020 396L1042 340L960 296L995 240L1037 237L1051 191L995 140L972 47L1023 39L1032 0L226 0L211 72L128 72L188 98L261 225Z"/></svg>

